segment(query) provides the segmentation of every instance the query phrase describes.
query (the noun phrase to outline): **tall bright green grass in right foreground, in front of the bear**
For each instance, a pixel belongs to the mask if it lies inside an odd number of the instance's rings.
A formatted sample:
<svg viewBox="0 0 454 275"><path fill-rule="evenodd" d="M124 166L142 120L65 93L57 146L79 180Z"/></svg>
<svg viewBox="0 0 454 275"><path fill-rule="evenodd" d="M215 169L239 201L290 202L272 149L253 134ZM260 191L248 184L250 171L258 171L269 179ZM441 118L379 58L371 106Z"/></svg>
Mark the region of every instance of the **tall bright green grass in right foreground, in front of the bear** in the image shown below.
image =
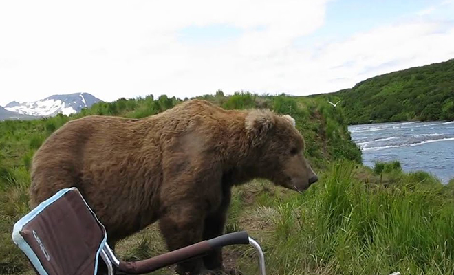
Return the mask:
<svg viewBox="0 0 454 275"><path fill-rule="evenodd" d="M454 198L446 187L408 174L368 186L355 166L333 164L305 194L244 210L268 220L251 234L263 240L269 274L453 274Z"/></svg>

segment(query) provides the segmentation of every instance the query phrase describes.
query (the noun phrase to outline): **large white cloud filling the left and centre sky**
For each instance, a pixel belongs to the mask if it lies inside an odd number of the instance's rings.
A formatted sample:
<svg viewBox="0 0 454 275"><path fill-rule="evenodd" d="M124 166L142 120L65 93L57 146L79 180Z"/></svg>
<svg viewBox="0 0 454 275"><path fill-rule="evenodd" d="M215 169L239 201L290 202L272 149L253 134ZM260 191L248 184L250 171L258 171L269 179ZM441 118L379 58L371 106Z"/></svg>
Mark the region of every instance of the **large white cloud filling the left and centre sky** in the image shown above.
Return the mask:
<svg viewBox="0 0 454 275"><path fill-rule="evenodd" d="M0 103L75 91L105 100L161 91L186 96L225 85L216 79L236 87L236 66L314 31L324 10L325 1L310 0L2 1ZM181 28L214 23L245 34L215 49L177 41ZM225 66L224 75L212 74Z"/></svg>

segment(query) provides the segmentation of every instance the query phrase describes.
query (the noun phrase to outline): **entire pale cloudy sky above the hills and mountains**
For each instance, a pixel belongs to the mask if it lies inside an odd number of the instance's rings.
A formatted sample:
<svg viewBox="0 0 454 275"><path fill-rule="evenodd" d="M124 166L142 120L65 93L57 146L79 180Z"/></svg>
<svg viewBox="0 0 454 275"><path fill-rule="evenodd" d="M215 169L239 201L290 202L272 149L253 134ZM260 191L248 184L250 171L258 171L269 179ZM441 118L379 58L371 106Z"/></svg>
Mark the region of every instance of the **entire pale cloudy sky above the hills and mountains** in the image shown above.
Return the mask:
<svg viewBox="0 0 454 275"><path fill-rule="evenodd" d="M0 106L304 96L454 58L454 0L0 0Z"/></svg>

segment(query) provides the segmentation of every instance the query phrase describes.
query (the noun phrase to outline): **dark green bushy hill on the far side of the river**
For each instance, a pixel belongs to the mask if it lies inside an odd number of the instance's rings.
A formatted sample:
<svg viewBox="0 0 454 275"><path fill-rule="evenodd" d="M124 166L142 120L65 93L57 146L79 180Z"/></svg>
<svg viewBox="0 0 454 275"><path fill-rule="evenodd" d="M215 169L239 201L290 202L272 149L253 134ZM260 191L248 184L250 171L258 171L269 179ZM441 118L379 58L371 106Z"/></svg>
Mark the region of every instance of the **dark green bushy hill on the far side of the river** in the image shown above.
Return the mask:
<svg viewBox="0 0 454 275"><path fill-rule="evenodd" d="M454 120L454 59L369 78L323 97L341 100L349 124Z"/></svg>

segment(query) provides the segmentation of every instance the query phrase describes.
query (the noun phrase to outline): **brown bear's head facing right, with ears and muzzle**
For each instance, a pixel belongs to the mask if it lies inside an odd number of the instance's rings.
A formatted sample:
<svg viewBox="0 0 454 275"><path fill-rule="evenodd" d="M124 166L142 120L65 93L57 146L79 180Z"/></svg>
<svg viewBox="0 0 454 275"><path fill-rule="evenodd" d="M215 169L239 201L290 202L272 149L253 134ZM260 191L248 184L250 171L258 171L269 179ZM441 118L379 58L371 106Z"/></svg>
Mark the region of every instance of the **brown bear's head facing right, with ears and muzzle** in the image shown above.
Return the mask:
<svg viewBox="0 0 454 275"><path fill-rule="evenodd" d="M245 127L254 157L255 177L298 192L318 181L303 155L303 136L290 115L255 109L248 112Z"/></svg>

